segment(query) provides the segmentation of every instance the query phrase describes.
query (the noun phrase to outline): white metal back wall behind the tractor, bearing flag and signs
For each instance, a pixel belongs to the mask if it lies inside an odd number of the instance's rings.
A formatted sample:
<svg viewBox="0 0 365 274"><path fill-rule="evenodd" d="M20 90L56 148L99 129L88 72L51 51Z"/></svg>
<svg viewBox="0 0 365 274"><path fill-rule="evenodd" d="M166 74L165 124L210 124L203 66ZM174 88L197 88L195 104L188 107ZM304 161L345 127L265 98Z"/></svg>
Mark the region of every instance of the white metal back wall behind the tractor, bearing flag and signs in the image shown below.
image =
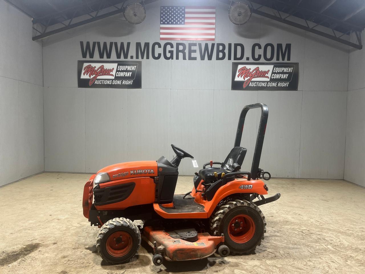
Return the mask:
<svg viewBox="0 0 365 274"><path fill-rule="evenodd" d="M342 179L348 47L256 15L235 26L220 1L199 3L216 6L215 42L249 50L255 42L291 43L298 91L231 91L232 61L164 59L142 60L141 90L77 88L80 41L159 41L160 5L179 4L196 1L158 1L147 5L139 25L116 15L43 41L45 170L96 172L116 162L171 159L171 143L200 166L224 160L243 106L262 102L269 121L260 167L276 177ZM244 169L251 165L258 119L258 110L247 115ZM196 170L189 160L179 169Z"/></svg>

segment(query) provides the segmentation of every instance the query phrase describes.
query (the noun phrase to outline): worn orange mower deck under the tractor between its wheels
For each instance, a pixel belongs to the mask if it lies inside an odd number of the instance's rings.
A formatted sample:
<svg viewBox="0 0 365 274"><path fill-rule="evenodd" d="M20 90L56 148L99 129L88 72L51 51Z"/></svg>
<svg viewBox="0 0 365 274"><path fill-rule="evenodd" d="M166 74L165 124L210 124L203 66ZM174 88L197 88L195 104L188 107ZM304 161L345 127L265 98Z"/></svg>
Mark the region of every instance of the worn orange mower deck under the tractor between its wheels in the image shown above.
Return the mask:
<svg viewBox="0 0 365 274"><path fill-rule="evenodd" d="M143 228L142 239L153 248L155 255L161 254L168 261L197 260L208 257L215 252L219 243L224 242L224 236L211 236L209 233L196 233L193 239L195 241L191 242L190 239L177 238L176 233L155 230L153 227Z"/></svg>

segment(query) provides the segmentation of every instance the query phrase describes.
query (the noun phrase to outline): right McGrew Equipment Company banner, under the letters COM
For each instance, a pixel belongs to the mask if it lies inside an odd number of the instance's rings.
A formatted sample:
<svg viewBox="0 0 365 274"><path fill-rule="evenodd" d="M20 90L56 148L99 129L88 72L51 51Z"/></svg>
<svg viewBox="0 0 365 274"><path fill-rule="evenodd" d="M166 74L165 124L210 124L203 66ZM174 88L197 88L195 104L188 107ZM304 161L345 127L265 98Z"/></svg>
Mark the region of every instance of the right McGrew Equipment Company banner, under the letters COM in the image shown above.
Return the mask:
<svg viewBox="0 0 365 274"><path fill-rule="evenodd" d="M298 90L298 63L232 63L232 90Z"/></svg>

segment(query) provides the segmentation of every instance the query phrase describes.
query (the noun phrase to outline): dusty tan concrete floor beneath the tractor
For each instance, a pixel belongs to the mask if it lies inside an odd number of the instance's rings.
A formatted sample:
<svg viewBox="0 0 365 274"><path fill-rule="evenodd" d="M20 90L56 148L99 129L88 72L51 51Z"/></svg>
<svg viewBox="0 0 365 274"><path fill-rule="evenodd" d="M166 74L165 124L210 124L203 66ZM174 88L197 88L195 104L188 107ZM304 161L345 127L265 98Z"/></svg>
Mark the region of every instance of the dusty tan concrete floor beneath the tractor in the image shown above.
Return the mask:
<svg viewBox="0 0 365 274"><path fill-rule="evenodd" d="M267 233L255 255L165 263L141 247L131 263L107 265L98 228L82 215L85 174L43 173L0 188L0 273L365 273L365 189L340 180L272 179L261 206ZM176 193L192 188L181 176Z"/></svg>

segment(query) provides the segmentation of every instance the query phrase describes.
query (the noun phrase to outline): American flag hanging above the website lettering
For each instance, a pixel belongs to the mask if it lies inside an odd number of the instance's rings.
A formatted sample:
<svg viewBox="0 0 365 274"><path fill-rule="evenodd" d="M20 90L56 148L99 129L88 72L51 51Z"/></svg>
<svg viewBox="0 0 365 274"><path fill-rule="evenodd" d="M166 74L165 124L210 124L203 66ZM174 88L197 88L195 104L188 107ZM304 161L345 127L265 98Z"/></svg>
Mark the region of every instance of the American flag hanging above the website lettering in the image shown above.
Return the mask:
<svg viewBox="0 0 365 274"><path fill-rule="evenodd" d="M215 7L161 6L160 40L214 39Z"/></svg>

